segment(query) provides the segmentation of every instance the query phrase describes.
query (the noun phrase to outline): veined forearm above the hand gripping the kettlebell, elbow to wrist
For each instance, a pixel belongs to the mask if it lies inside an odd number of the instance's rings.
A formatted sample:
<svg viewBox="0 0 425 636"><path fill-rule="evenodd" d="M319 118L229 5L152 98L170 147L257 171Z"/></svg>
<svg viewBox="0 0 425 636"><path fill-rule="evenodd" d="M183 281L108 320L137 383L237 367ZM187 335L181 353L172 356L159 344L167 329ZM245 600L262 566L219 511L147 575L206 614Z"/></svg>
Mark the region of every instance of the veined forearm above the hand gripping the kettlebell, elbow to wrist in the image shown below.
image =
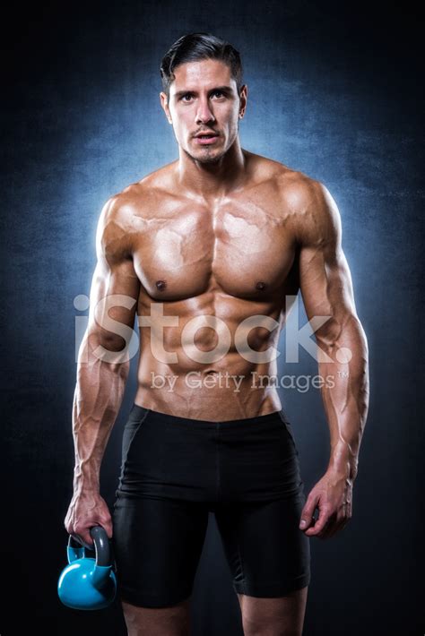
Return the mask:
<svg viewBox="0 0 425 636"><path fill-rule="evenodd" d="M92 352L88 362L78 362L73 405L74 493L100 490L100 465L123 400L129 364L110 364Z"/></svg>

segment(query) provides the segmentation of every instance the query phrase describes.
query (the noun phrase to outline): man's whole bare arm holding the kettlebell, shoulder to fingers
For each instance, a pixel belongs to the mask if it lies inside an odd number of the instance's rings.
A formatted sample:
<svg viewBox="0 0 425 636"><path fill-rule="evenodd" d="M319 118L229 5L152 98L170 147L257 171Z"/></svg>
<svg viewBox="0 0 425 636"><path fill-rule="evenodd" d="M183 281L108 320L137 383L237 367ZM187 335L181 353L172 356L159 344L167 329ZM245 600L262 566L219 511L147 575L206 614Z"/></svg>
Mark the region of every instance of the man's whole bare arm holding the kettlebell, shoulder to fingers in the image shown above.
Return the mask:
<svg viewBox="0 0 425 636"><path fill-rule="evenodd" d="M103 526L112 537L108 506L100 497L100 464L126 387L127 345L140 288L122 217L117 197L100 213L89 323L79 349L74 391L74 496L65 528L89 546L93 525Z"/></svg>

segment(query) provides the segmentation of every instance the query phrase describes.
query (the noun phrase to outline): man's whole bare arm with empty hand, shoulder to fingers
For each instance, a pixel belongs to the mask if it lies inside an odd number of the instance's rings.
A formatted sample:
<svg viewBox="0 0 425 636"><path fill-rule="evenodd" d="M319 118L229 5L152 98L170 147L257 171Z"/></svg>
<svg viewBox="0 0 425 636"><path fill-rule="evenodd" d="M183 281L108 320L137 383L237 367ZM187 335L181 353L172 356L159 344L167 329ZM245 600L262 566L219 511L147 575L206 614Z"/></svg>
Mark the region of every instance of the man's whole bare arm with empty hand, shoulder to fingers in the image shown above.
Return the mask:
<svg viewBox="0 0 425 636"><path fill-rule="evenodd" d="M315 181L300 202L299 286L306 313L308 320L330 316L315 335L331 446L325 476L308 496L301 515L306 525L300 528L308 536L330 537L351 518L352 483L369 408L368 342L356 313L336 203ZM319 518L309 528L316 507Z"/></svg>

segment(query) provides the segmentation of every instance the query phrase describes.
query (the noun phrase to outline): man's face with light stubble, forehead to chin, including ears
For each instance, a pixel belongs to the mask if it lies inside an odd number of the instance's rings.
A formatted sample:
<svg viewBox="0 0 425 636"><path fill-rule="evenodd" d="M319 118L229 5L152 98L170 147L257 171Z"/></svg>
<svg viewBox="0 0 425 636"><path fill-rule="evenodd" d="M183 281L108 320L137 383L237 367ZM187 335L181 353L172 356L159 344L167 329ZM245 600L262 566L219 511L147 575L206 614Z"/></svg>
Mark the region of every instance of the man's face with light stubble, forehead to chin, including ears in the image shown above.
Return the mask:
<svg viewBox="0 0 425 636"><path fill-rule="evenodd" d="M201 163L214 163L229 150L238 136L239 116L243 116L247 87L239 100L230 67L219 60L179 64L176 79L169 87L169 101L160 93L161 106L172 123L178 145ZM203 140L196 135L211 133Z"/></svg>

